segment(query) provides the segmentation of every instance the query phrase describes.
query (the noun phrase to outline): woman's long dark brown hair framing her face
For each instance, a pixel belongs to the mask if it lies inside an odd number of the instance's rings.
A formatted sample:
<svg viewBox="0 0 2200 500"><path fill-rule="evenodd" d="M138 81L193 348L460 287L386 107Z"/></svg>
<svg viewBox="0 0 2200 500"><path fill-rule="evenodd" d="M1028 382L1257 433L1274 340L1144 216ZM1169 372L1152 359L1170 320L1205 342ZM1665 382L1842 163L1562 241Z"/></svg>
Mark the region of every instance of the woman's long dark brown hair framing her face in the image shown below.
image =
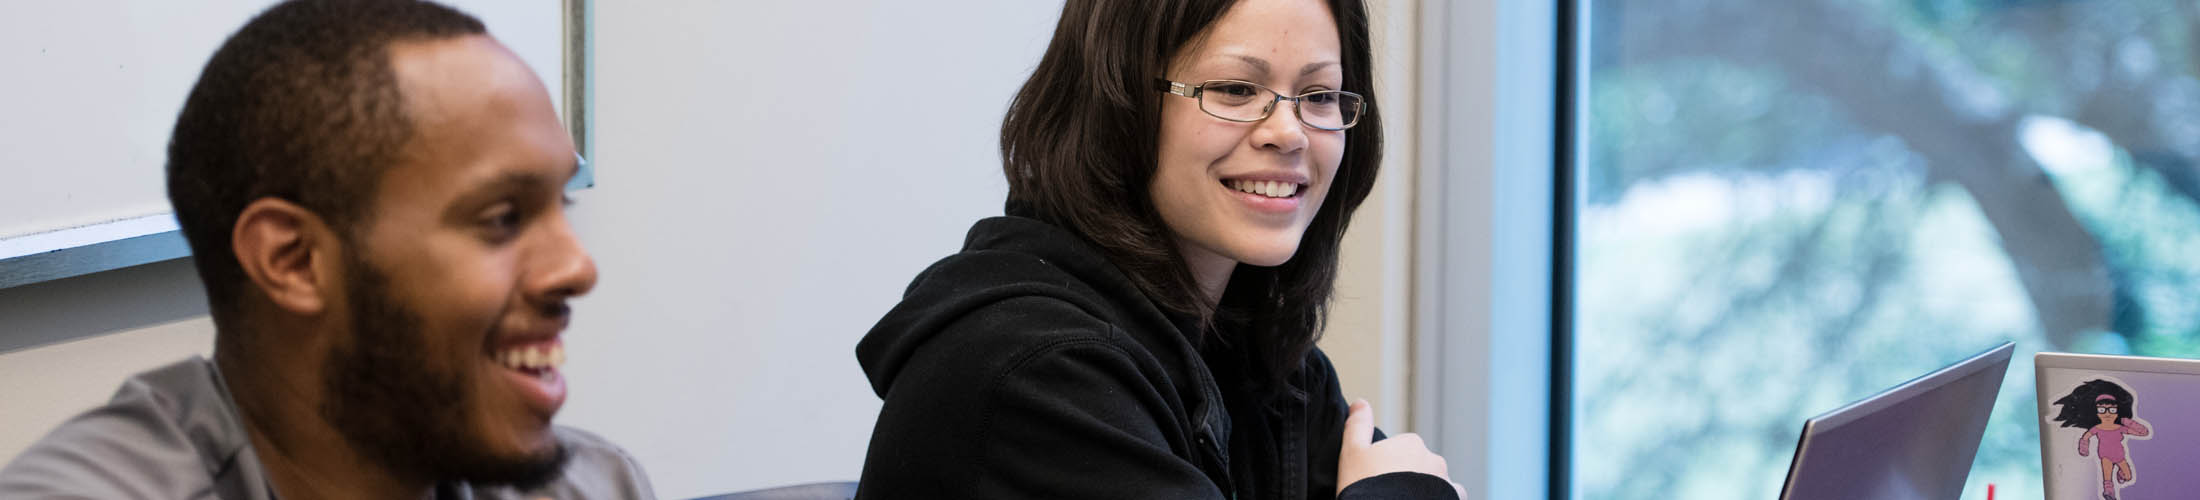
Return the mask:
<svg viewBox="0 0 2200 500"><path fill-rule="evenodd" d="M1375 99L1366 4L1329 0L1338 22L1344 88L1366 97L1360 123L1344 130L1329 198L1298 253L1280 267L1239 264L1221 304L1208 308L1177 251L1177 236L1153 207L1148 185L1159 161L1162 93L1153 81L1168 62L1219 20L1234 0L1069 0L1032 79L1001 121L1008 211L1071 229L1100 247L1164 311L1223 324L1256 361L1256 383L1283 388L1313 350L1335 289L1338 247L1382 163L1382 106ZM1210 330L1192 333L1206 344Z"/></svg>

